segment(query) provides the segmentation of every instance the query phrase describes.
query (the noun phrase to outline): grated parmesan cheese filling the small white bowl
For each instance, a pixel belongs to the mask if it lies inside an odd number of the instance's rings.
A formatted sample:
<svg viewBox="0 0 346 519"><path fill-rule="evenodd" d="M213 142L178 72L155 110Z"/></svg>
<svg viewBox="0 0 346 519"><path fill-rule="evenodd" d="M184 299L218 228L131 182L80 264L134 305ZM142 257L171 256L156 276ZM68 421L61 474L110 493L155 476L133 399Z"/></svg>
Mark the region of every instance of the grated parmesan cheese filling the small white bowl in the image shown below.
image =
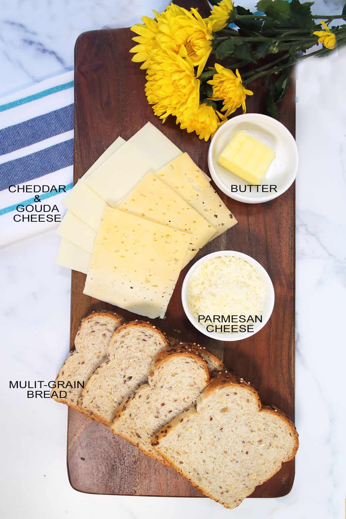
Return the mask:
<svg viewBox="0 0 346 519"><path fill-rule="evenodd" d="M217 256L197 269L187 301L193 317L211 331L211 321L199 320L198 316L255 319L264 310L265 296L264 282L255 267L236 256Z"/></svg>

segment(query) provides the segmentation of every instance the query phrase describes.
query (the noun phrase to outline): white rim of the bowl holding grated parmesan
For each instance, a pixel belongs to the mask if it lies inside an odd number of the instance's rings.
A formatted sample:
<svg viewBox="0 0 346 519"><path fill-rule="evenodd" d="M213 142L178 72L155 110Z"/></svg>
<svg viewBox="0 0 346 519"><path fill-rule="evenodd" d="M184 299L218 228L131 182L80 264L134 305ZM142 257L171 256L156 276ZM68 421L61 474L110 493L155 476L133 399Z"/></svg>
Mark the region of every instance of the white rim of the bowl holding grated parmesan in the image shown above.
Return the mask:
<svg viewBox="0 0 346 519"><path fill-rule="evenodd" d="M237 333L207 332L206 328L204 326L202 326L202 324L200 324L195 319L195 317L193 317L190 307L187 302L188 288L189 288L190 281L191 281L193 275L195 274L196 270L203 263L209 261L211 258L213 258L215 256L236 256L236 257L242 258L242 260L247 261L253 267L255 267L258 274L261 276L261 278L264 282L264 285L265 285L265 289L266 289L266 298L265 298L266 304L265 304L264 311L262 312L262 322L254 323L253 332L237 332ZM183 282L183 287L182 287L183 308L186 313L186 317L188 318L190 323L193 324L193 326L195 326L195 328L199 332L203 333L207 337L211 337L211 338L217 339L217 340L224 340L224 341L246 339L247 337L251 337L255 333L259 332L259 330L261 330L262 327L264 327L264 325L269 321L269 318L270 318L271 313L274 308L274 299L275 299L274 287L273 287L273 283L271 282L271 279L268 275L268 272L262 267L262 265L260 265L260 263L258 263L256 260L254 260L254 258L252 258L251 256L248 256L247 254L243 254L242 252L237 252L237 251L217 251L217 252L212 252L211 254L207 254L206 256L202 257L198 262L195 263L195 265L192 265L190 270L187 272L184 282Z"/></svg>

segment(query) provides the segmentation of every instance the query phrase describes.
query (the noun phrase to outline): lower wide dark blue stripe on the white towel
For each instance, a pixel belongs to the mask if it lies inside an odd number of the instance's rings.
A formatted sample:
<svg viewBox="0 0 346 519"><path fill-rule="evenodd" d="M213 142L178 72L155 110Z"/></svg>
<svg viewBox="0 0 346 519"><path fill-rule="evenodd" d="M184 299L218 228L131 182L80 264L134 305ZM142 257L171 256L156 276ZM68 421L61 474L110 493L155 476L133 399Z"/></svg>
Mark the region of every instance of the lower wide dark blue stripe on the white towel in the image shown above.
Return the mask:
<svg viewBox="0 0 346 519"><path fill-rule="evenodd" d="M72 166L73 139L0 165L0 191Z"/></svg>

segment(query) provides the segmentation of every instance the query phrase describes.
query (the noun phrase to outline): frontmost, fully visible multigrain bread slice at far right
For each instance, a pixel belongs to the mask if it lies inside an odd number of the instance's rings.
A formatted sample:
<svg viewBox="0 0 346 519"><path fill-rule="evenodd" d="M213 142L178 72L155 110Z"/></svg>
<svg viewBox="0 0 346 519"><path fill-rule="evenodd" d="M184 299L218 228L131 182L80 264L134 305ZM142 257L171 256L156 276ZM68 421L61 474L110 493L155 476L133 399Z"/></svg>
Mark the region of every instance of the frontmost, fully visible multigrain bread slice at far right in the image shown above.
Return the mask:
<svg viewBox="0 0 346 519"><path fill-rule="evenodd" d="M224 372L152 442L203 494L236 508L295 456L298 434L279 409L261 406L250 383Z"/></svg>

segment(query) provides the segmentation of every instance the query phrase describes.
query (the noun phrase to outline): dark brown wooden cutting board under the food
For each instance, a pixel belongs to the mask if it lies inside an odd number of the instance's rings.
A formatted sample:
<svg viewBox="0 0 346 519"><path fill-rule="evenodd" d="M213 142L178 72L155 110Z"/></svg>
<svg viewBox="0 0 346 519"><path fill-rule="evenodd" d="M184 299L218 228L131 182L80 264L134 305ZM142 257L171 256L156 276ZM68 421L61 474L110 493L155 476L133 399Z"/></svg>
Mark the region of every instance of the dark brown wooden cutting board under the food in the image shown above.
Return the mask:
<svg viewBox="0 0 346 519"><path fill-rule="evenodd" d="M204 0L179 2L198 7L207 16ZM164 125L153 114L144 94L145 73L131 62L129 29L81 34L75 47L74 182L87 171L118 135L129 139L148 120L158 127L198 166L208 172L209 143L180 131L173 118ZM248 112L262 112L265 90L252 84ZM238 115L240 110L236 112ZM295 86L279 108L279 120L295 134ZM295 330L295 186L272 202L244 204L219 193L239 223L206 245L196 256L218 250L237 250L253 256L268 271L275 290L269 323L256 335L222 343L200 334L185 317L181 288L189 266L177 282L164 320L152 321L168 335L200 343L256 387L262 403L281 408L294 419ZM116 309L83 295L85 275L72 272L71 349L79 323L96 309ZM117 310L117 309L116 309ZM133 313L119 310L128 319ZM175 471L146 457L114 436L106 427L68 410L67 467L71 485L82 492L143 496L200 496ZM269 481L258 486L255 497L280 497L293 485L294 461L284 463Z"/></svg>

